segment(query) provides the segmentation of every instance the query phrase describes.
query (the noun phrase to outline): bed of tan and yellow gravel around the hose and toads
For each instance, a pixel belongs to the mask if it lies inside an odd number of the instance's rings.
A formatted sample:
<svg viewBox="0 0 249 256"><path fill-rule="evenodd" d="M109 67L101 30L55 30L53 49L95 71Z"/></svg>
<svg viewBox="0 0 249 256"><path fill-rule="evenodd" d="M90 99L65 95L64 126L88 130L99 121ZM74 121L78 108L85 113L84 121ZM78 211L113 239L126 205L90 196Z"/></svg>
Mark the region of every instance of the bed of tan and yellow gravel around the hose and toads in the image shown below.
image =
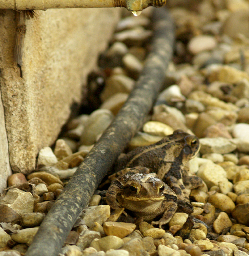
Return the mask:
<svg viewBox="0 0 249 256"><path fill-rule="evenodd" d="M97 190L60 256L246 256L249 254L249 1L170 2L176 49L164 90L127 151L181 129L200 138L189 161L203 186L191 191L195 220L177 212L159 229L134 224ZM88 79L82 113L55 145L40 150L37 170L15 173L0 197L0 256L24 255L54 200L126 101L149 49L151 8L123 12L99 69ZM85 114L87 113L87 114ZM108 188L108 187L107 187Z"/></svg>

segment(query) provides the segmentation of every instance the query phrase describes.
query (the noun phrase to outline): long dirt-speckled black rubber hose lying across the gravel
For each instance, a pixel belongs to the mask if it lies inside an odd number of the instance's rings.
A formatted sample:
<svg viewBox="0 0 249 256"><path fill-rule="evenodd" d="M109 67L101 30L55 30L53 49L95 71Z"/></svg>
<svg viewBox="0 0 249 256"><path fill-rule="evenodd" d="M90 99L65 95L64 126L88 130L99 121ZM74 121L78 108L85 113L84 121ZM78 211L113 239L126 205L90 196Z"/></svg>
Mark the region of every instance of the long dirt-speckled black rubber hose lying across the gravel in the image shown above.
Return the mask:
<svg viewBox="0 0 249 256"><path fill-rule="evenodd" d="M172 57L174 25L165 8L153 13L152 48L139 80L114 121L55 201L26 256L57 256L82 209L151 110Z"/></svg>

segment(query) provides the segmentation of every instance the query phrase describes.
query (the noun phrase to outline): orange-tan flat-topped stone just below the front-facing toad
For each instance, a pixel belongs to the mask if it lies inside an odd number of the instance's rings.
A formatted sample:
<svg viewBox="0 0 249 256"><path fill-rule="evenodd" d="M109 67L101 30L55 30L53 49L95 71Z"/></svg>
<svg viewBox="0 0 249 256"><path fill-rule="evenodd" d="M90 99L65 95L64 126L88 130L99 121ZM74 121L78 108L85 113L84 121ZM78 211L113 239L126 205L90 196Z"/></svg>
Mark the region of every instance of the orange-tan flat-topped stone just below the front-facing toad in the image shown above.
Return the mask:
<svg viewBox="0 0 249 256"><path fill-rule="evenodd" d="M103 229L106 235L115 235L124 238L133 232L136 228L135 224L125 222L106 221L103 223Z"/></svg>

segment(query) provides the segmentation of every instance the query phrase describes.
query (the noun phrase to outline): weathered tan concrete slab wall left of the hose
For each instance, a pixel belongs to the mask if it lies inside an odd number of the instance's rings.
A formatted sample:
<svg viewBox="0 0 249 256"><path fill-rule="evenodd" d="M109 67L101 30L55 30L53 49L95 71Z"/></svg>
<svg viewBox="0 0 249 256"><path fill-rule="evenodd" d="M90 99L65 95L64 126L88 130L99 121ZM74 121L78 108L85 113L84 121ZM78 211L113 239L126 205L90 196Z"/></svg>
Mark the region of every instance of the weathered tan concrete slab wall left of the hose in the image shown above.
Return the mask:
<svg viewBox="0 0 249 256"><path fill-rule="evenodd" d="M80 102L87 73L107 46L120 10L36 11L36 18L26 20L22 77L13 62L15 11L0 10L0 86L14 172L34 170L38 151L53 144L70 107ZM2 116L0 121L4 130Z"/></svg>

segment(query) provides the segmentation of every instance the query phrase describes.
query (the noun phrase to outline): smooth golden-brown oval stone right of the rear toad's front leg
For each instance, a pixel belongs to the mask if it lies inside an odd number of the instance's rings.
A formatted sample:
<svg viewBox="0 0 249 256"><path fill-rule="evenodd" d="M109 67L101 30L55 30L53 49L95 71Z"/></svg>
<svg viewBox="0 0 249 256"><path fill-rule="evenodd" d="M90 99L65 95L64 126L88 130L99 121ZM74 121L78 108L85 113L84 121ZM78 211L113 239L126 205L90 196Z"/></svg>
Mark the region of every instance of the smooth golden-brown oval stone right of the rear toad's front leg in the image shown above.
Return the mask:
<svg viewBox="0 0 249 256"><path fill-rule="evenodd" d="M208 202L228 214L235 208L233 200L229 196L221 193L215 193L209 196Z"/></svg>

